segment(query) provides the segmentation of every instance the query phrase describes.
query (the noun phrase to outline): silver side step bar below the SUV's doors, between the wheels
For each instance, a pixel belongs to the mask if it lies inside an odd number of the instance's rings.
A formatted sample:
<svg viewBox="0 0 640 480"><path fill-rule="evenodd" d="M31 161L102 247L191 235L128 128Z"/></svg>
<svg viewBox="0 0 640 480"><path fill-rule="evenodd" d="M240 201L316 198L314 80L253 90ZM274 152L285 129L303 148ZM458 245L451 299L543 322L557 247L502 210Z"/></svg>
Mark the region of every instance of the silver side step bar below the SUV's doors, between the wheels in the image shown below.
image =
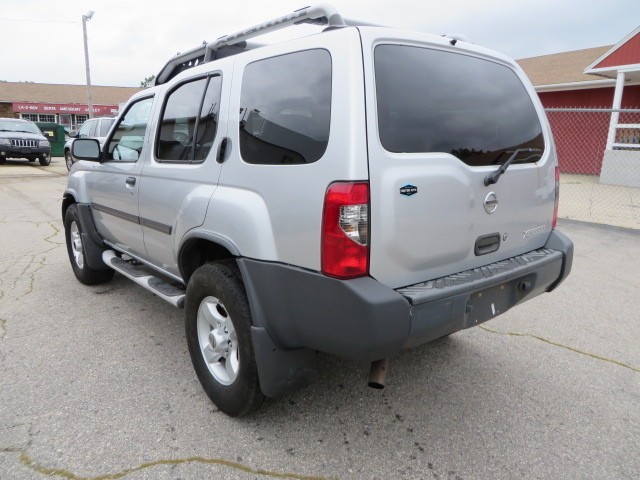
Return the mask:
<svg viewBox="0 0 640 480"><path fill-rule="evenodd" d="M144 265L136 261L121 259L113 250L105 250L102 253L102 261L116 272L121 273L129 280L133 280L174 307L184 307L184 287L176 287L174 284L156 277Z"/></svg>

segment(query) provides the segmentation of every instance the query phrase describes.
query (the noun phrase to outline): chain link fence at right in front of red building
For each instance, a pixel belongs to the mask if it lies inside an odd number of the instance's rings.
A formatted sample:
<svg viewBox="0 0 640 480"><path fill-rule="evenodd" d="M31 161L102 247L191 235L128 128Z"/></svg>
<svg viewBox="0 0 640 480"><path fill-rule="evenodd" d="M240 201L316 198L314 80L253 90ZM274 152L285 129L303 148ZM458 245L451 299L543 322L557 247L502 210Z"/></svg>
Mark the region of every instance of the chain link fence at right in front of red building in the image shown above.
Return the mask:
<svg viewBox="0 0 640 480"><path fill-rule="evenodd" d="M640 229L640 109L547 108L559 217Z"/></svg>

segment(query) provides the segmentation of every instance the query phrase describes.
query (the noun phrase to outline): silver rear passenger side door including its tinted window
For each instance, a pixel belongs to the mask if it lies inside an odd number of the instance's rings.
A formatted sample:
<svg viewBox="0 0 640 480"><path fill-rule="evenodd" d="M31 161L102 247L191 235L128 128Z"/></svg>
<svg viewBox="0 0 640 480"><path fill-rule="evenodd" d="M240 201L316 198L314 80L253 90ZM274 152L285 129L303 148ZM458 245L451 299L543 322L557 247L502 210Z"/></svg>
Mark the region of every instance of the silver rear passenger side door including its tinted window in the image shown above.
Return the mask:
<svg viewBox="0 0 640 480"><path fill-rule="evenodd" d="M202 225L218 185L226 138L231 60L168 85L153 125L153 152L140 181L140 224L148 260L180 275L176 253Z"/></svg>

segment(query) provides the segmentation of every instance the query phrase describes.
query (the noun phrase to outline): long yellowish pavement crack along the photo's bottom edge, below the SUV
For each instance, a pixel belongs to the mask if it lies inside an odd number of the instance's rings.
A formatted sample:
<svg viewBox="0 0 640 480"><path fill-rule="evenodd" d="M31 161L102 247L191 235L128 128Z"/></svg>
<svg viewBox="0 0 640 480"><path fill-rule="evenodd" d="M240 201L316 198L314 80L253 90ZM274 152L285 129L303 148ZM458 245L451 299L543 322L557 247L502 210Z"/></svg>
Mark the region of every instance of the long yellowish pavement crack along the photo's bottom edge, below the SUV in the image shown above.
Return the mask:
<svg viewBox="0 0 640 480"><path fill-rule="evenodd" d="M161 466L161 465L175 466L175 465L183 465L188 463L200 463L205 465L221 465L221 466L232 468L235 470L240 470L245 473L260 475L267 478L289 478L293 480L328 480L326 477L316 477L316 476L300 475L297 473L280 473L280 472L272 472L269 470L254 469L242 463L232 462L230 460L224 460L221 458L206 458L206 457L198 457L198 456L187 457L187 458L177 458L177 459L160 459L152 462L145 462L135 467L127 468L120 472L108 473L106 475L97 475L94 477L82 477L74 474L73 472L70 472L69 470L65 470L62 468L50 468L50 467L45 467L43 465L40 465L31 458L31 456L26 451L26 449L20 452L20 461L25 467L29 468L30 470L36 473L39 473L41 475L46 475L49 477L65 478L67 480L118 480L132 473L140 472L142 470L146 470L146 469Z"/></svg>

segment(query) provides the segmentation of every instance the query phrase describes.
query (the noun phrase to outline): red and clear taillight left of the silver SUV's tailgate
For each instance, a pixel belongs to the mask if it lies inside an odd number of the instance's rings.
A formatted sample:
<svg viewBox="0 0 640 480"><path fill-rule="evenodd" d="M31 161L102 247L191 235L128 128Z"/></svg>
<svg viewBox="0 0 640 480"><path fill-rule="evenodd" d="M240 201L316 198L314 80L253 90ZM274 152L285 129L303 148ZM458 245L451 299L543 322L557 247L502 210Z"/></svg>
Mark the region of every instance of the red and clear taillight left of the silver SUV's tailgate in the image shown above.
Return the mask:
<svg viewBox="0 0 640 480"><path fill-rule="evenodd" d="M322 213L322 273L347 279L369 273L369 184L329 186Z"/></svg>

